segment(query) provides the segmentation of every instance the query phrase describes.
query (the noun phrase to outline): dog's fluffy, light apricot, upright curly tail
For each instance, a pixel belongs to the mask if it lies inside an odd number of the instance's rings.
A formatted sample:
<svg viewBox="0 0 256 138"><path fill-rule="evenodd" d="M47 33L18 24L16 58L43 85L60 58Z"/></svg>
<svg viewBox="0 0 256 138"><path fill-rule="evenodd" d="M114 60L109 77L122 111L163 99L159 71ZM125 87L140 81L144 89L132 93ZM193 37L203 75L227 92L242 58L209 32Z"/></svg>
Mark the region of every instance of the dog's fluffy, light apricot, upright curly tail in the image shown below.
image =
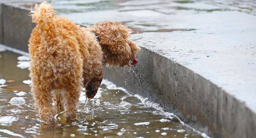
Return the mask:
<svg viewBox="0 0 256 138"><path fill-rule="evenodd" d="M52 23L52 18L55 15L53 7L48 2L44 1L41 4L35 5L36 11L30 11L32 17L32 22L40 26L41 30L49 30L54 27Z"/></svg>

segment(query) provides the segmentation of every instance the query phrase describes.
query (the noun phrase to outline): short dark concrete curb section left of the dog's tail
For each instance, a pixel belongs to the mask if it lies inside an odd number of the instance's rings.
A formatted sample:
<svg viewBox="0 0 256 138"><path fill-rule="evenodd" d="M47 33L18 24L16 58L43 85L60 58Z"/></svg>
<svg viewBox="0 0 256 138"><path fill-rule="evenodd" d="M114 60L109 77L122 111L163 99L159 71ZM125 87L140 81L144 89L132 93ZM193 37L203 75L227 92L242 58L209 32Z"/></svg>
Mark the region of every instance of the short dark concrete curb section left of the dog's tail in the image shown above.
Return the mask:
<svg viewBox="0 0 256 138"><path fill-rule="evenodd" d="M1 11L1 43L13 48L19 46L17 49L28 51L28 39L35 27L28 16L29 11L5 4L1 4L0 13Z"/></svg>

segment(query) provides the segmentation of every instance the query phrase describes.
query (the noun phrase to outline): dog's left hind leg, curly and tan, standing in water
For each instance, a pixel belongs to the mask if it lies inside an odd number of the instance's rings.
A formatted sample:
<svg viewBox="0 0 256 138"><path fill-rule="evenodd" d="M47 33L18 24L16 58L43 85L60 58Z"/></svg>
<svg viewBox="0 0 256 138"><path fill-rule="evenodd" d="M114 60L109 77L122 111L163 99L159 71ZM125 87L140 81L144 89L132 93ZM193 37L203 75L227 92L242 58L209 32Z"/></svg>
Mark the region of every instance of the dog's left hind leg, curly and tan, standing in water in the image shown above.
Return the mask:
<svg viewBox="0 0 256 138"><path fill-rule="evenodd" d="M49 85L38 83L32 78L31 92L35 100L35 107L41 117L41 120L46 124L53 124L55 122L54 116L56 110L52 106L52 93Z"/></svg>

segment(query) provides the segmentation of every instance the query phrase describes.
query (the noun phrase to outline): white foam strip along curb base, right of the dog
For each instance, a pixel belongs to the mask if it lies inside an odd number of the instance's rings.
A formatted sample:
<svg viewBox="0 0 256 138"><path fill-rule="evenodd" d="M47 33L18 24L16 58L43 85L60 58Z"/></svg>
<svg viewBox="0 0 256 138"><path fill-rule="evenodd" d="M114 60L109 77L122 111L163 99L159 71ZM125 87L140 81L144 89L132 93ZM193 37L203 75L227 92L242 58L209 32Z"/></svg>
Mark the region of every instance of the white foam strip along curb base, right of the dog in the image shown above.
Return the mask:
<svg viewBox="0 0 256 138"><path fill-rule="evenodd" d="M129 95L132 95L132 94L130 94L129 91L127 91L127 90L124 89L123 87L117 87L116 84L113 84L112 82L108 81L107 79L103 79L101 84L105 84L108 89L114 89L114 90L119 89L119 90L122 90L122 91L128 93ZM133 95L133 96L136 97L136 98L138 98L138 99L140 99L142 104L147 105L147 106L149 106L149 107L155 108L155 109L158 111L159 114L164 115L166 118L169 118L169 119L177 118L177 119L180 121L180 124L181 124L181 125L183 125L183 126L189 128L189 129L193 130L193 131L194 131L195 133L197 133L197 134L200 134L203 138L210 138L207 134L202 133L202 132L196 130L195 128L190 127L189 125L185 124L185 123L184 123L183 121L181 121L180 118L179 118L178 116L176 116L174 113L165 112L164 109L163 109L159 104L154 103L154 102L150 102L150 101L148 100L148 98L144 98L144 97L142 97L142 96L140 96L140 95L138 95L138 94L135 94L135 95ZM149 123L149 122L148 122L148 123ZM135 124L137 124L137 123L135 123Z"/></svg>

